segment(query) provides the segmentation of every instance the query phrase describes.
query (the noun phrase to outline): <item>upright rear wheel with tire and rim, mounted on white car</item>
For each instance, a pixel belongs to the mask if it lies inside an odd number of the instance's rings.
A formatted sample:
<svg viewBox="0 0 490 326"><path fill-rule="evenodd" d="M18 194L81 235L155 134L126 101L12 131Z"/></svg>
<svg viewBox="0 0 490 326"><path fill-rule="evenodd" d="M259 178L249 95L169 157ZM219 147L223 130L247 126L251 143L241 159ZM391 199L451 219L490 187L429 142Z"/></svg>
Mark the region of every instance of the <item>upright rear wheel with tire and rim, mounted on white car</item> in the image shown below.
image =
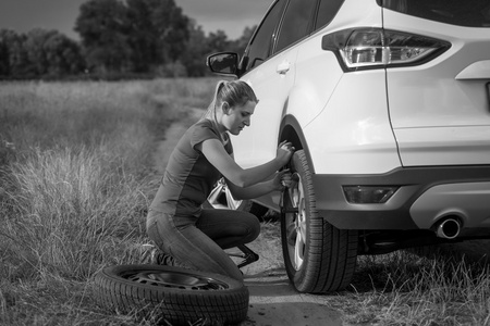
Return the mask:
<svg viewBox="0 0 490 326"><path fill-rule="evenodd" d="M284 192L281 242L287 276L299 292L344 289L352 280L358 236L319 216L311 173L304 150L294 153L290 170L297 184Z"/></svg>

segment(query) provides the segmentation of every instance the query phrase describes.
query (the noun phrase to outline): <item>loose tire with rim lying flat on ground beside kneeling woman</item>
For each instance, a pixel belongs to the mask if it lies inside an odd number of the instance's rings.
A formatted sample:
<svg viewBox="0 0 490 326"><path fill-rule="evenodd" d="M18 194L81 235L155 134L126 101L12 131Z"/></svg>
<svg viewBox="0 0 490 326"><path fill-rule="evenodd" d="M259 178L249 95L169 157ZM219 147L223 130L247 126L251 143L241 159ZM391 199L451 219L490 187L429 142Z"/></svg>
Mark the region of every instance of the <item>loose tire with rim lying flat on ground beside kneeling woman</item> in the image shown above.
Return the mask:
<svg viewBox="0 0 490 326"><path fill-rule="evenodd" d="M95 285L100 305L157 323L233 325L247 316L247 288L219 274L161 265L117 265L97 273Z"/></svg>

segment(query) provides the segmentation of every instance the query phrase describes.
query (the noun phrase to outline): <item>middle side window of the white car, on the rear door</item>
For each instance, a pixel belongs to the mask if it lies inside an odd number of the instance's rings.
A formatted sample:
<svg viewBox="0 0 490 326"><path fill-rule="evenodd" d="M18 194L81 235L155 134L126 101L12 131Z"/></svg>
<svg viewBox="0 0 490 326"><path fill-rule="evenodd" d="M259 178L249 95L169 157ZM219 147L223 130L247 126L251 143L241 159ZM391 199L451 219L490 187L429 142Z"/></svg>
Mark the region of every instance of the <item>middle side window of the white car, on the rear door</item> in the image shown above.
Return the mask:
<svg viewBox="0 0 490 326"><path fill-rule="evenodd" d="M279 33L275 52L308 35L316 5L317 0L290 0Z"/></svg>

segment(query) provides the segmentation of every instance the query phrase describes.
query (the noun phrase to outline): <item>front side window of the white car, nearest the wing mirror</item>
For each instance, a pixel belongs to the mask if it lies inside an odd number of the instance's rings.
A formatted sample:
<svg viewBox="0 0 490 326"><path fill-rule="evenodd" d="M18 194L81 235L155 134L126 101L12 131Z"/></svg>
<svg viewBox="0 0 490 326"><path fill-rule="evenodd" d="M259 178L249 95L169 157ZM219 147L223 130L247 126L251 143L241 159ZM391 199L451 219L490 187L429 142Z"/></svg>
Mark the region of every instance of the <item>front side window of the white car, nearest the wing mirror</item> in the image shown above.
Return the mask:
<svg viewBox="0 0 490 326"><path fill-rule="evenodd" d="M286 0L279 0L274 7L269 11L267 16L260 24L254 39L248 47L246 55L245 71L259 65L270 55L270 50L274 37L274 30L281 20L284 3Z"/></svg>

